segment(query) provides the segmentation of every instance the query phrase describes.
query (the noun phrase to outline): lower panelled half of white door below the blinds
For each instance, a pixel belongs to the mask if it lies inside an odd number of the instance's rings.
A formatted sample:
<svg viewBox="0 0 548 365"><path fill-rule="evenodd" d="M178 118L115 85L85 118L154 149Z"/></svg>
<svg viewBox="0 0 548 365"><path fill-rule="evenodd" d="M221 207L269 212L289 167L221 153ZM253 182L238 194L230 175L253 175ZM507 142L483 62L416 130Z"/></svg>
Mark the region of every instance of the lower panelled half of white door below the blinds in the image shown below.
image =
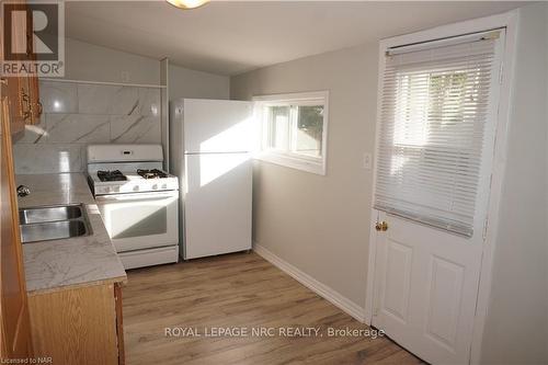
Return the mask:
<svg viewBox="0 0 548 365"><path fill-rule="evenodd" d="M429 363L468 363L482 240L379 219L373 326Z"/></svg>

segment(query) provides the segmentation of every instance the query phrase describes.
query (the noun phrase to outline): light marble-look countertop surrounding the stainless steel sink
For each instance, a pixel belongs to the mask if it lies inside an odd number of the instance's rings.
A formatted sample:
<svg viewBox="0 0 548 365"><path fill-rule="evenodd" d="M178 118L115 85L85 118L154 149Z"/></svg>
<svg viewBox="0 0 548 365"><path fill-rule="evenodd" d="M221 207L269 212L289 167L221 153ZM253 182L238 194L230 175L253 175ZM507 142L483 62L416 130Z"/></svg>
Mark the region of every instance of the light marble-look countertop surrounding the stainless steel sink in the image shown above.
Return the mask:
<svg viewBox="0 0 548 365"><path fill-rule="evenodd" d="M83 203L92 230L85 237L23 244L28 294L126 281L82 173L25 174L15 179L18 185L31 189L28 196L19 198L19 207Z"/></svg>

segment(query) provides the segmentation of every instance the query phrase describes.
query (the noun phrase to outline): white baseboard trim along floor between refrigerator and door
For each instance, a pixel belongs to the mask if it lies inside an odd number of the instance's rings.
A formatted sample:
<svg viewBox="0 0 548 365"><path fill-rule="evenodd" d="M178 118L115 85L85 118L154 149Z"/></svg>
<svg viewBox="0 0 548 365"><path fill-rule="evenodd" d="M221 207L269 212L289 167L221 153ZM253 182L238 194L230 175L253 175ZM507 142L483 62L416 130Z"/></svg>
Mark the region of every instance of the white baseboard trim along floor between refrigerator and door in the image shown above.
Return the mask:
<svg viewBox="0 0 548 365"><path fill-rule="evenodd" d="M359 307L354 301L344 297L340 293L333 290L329 286L318 282L312 276L295 267L287 261L278 258L276 254L272 253L264 246L253 242L253 251L256 252L261 258L272 263L274 266L278 267L293 278L295 278L300 284L308 287L310 290L318 294L320 297L330 301L335 307L340 308L344 312L357 319L359 322L365 323L365 308Z"/></svg>

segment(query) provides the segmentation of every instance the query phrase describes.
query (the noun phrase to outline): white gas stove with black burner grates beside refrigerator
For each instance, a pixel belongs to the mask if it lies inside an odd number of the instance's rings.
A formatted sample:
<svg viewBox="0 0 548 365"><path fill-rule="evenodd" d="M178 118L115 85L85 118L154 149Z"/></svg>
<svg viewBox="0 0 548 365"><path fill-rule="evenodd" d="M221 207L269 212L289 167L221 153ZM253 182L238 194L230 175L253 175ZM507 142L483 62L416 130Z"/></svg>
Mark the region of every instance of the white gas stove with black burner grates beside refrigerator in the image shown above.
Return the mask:
<svg viewBox="0 0 548 365"><path fill-rule="evenodd" d="M88 146L88 181L125 269L179 259L179 180L160 145Z"/></svg>

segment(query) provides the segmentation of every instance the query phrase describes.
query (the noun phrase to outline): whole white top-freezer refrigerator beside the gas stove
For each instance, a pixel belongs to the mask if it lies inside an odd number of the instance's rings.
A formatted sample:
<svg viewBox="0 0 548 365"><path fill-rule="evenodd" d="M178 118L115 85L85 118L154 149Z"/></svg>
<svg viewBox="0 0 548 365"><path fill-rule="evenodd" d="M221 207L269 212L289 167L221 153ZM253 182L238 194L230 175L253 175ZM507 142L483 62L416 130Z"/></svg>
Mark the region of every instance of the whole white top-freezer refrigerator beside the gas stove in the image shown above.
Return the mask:
<svg viewBox="0 0 548 365"><path fill-rule="evenodd" d="M251 249L251 102L170 103L170 170L180 182L183 259Z"/></svg>

